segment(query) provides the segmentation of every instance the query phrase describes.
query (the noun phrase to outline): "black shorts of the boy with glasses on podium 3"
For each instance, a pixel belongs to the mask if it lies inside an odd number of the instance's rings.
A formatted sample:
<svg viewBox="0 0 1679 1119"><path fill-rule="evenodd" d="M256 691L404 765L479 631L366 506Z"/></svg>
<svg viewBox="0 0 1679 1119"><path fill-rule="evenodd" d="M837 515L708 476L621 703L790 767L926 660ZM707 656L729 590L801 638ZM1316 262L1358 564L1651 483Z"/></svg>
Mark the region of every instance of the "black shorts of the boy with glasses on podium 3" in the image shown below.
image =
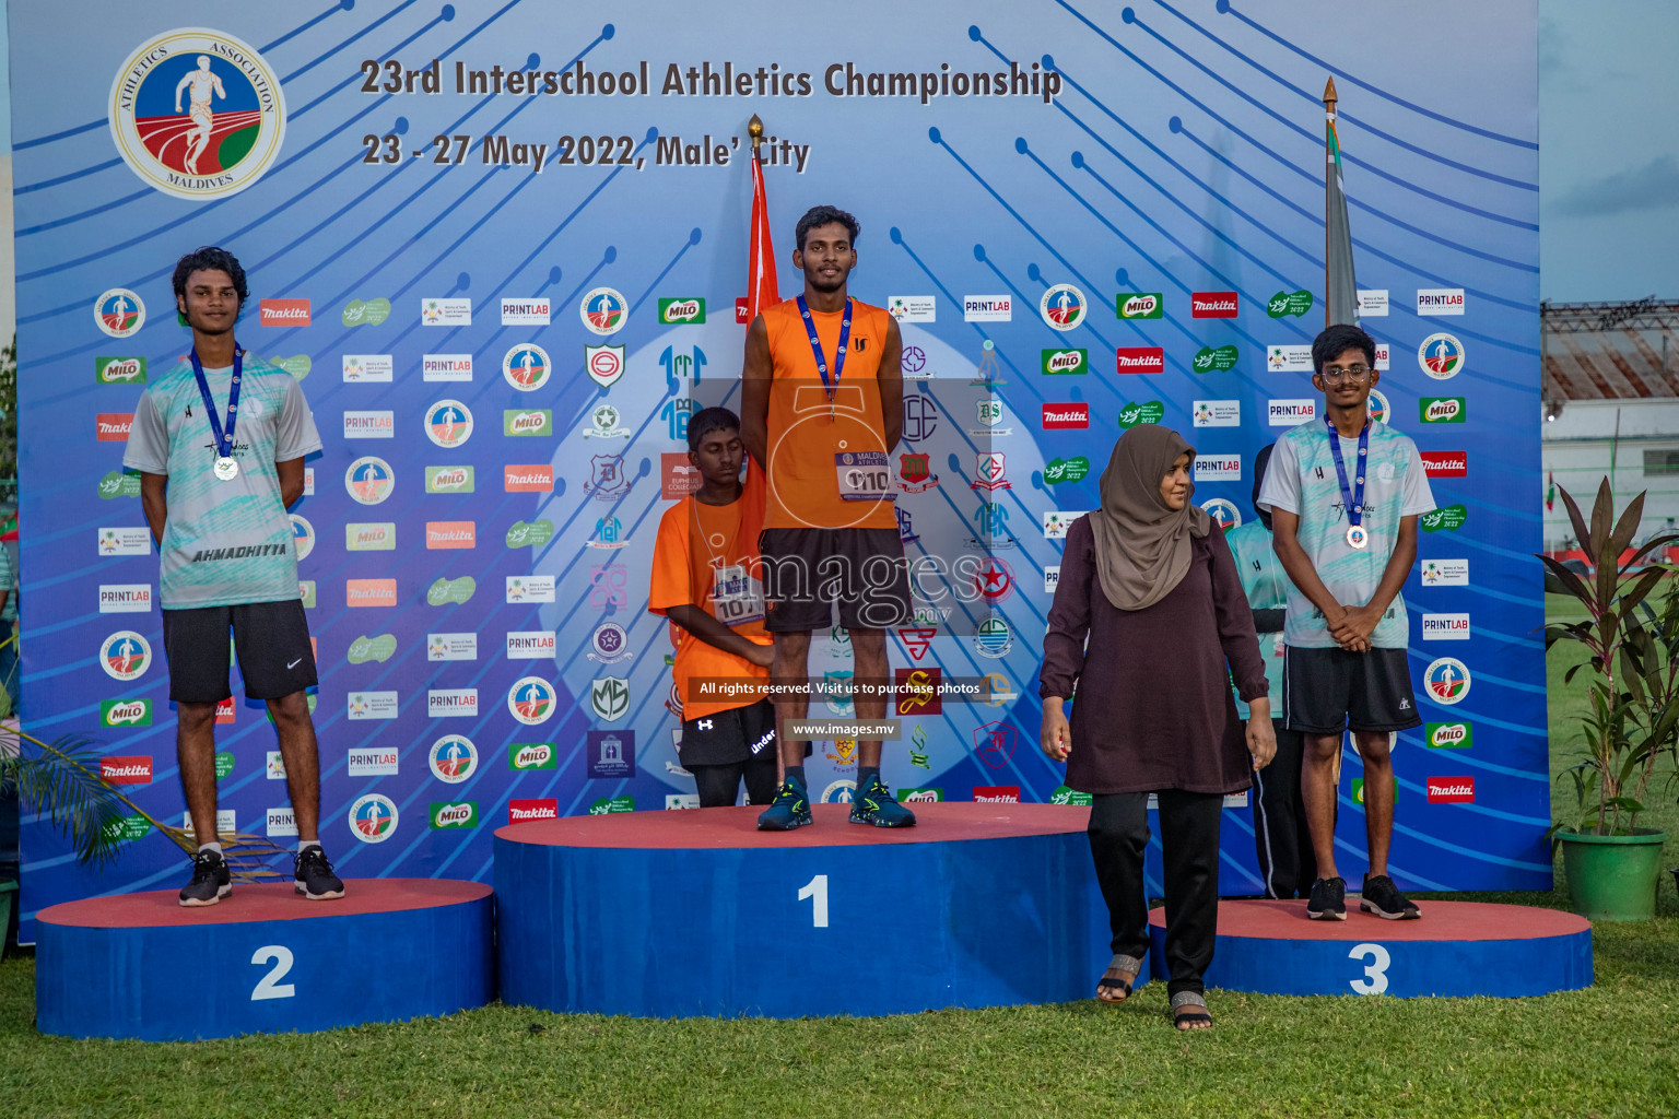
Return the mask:
<svg viewBox="0 0 1679 1119"><path fill-rule="evenodd" d="M1283 649L1283 725L1303 735L1422 726L1405 649Z"/></svg>

